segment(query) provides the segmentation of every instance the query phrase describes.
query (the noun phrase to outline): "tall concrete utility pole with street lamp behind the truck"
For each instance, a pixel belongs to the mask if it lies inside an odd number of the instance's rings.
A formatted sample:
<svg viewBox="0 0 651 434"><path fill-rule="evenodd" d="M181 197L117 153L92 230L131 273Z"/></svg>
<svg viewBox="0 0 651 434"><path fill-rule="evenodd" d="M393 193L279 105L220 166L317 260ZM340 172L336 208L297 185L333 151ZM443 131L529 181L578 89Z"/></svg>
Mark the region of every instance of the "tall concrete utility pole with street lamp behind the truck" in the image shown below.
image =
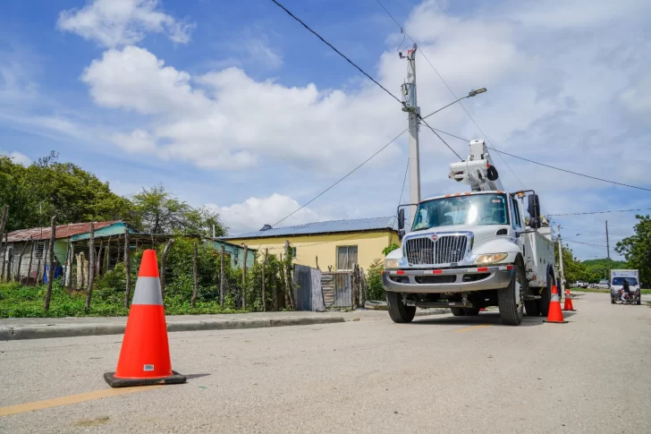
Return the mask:
<svg viewBox="0 0 651 434"><path fill-rule="evenodd" d="M409 113L410 123L410 203L420 201L420 161L418 149L418 115L420 107L416 99L416 44L407 50L407 81L402 84L402 111ZM416 217L416 206L410 207L410 227Z"/></svg>

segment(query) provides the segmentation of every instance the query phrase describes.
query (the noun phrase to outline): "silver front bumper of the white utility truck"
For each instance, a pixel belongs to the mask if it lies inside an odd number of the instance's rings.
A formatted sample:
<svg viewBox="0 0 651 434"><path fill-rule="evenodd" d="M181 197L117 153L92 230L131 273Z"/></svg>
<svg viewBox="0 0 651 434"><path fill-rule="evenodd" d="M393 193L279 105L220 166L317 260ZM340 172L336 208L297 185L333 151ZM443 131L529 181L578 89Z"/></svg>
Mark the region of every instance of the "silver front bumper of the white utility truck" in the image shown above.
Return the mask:
<svg viewBox="0 0 651 434"><path fill-rule="evenodd" d="M387 269L382 272L385 290L410 294L454 294L509 285L512 265L480 268Z"/></svg>

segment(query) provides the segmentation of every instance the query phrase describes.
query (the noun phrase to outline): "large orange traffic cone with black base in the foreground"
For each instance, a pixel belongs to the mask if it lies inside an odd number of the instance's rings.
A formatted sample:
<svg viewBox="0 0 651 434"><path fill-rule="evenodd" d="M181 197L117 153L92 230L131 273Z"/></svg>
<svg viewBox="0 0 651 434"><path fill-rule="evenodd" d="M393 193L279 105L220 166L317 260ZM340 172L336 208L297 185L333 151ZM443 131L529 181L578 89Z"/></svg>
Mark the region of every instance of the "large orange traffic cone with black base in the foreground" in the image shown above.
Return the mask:
<svg viewBox="0 0 651 434"><path fill-rule="evenodd" d="M117 370L104 379L111 387L185 383L170 362L156 251L142 254Z"/></svg>

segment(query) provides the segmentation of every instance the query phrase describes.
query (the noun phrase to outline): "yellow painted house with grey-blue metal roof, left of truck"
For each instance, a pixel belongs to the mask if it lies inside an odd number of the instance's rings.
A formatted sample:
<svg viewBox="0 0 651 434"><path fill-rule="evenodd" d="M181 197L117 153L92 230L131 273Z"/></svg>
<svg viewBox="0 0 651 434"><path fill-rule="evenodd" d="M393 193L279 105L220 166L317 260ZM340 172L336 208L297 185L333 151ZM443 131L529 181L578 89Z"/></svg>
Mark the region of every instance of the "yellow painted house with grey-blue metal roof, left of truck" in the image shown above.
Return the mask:
<svg viewBox="0 0 651 434"><path fill-rule="evenodd" d="M293 249L294 263L323 270L368 269L373 260L384 260L382 251L398 241L395 217L359 218L272 228L223 237L229 243L247 244L258 255L283 253L285 241Z"/></svg>

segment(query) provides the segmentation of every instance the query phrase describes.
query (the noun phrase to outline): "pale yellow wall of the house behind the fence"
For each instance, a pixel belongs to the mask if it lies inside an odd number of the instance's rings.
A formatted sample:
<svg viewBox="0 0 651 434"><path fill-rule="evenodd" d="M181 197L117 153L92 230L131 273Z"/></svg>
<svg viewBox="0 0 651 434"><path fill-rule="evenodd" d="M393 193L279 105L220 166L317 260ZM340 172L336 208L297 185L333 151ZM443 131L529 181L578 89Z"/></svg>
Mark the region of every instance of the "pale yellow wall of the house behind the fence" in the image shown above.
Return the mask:
<svg viewBox="0 0 651 434"><path fill-rule="evenodd" d="M265 249L269 254L284 254L284 242L289 240L292 247L296 248L294 263L327 269L331 266L337 267L337 247L357 246L359 267L368 269L374 260L384 260L382 251L391 243L399 243L398 235L391 231L384 232L359 232L349 234L326 234L326 235L300 235L277 238L254 238L254 239L230 239L230 243L247 243L249 247L258 250L262 258Z"/></svg>

